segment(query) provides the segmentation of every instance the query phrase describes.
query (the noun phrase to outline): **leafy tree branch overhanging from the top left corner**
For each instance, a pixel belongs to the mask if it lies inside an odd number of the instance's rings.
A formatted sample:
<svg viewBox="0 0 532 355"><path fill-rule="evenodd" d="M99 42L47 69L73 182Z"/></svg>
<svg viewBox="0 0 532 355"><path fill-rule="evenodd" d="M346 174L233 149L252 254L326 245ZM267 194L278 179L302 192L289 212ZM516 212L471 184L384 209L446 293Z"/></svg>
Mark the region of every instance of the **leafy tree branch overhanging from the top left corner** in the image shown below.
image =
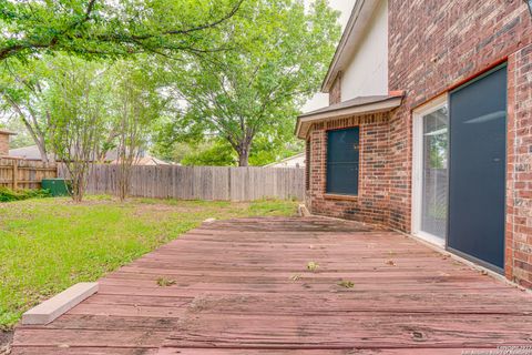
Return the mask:
<svg viewBox="0 0 532 355"><path fill-rule="evenodd" d="M209 38L243 0L0 0L0 61L68 52L116 58L172 57L224 49Z"/></svg>

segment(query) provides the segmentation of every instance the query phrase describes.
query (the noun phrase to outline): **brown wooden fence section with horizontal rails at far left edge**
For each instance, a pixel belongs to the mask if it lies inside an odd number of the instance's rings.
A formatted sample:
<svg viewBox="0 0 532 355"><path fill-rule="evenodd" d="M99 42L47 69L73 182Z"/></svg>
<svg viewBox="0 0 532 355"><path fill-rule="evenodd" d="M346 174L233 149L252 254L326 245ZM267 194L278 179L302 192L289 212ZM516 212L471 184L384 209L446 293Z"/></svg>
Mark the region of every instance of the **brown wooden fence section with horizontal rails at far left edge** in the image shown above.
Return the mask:
<svg viewBox="0 0 532 355"><path fill-rule="evenodd" d="M41 161L1 158L0 186L10 189L40 189L41 180L55 178L55 165Z"/></svg>

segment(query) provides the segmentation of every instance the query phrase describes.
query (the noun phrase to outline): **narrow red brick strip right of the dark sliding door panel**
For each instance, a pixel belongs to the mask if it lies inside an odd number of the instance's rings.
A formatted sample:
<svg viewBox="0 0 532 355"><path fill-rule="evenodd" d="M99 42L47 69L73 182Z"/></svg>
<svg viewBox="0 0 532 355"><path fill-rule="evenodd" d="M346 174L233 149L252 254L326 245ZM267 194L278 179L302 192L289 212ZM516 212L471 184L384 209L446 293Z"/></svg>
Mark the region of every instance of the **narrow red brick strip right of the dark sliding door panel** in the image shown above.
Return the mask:
<svg viewBox="0 0 532 355"><path fill-rule="evenodd" d="M507 276L532 288L532 45L508 65Z"/></svg>

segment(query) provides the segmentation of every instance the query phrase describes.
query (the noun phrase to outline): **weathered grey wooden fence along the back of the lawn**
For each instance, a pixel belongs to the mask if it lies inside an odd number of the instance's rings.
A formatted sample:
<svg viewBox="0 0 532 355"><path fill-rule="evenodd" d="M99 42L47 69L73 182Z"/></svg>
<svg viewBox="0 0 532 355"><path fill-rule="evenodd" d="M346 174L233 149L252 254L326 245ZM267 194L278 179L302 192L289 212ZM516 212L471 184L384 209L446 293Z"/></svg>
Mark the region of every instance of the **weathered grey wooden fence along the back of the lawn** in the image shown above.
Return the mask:
<svg viewBox="0 0 532 355"><path fill-rule="evenodd" d="M303 200L305 170L293 168L133 166L130 195L177 200ZM116 191L116 165L94 165L89 193ZM68 178L64 169L60 176Z"/></svg>

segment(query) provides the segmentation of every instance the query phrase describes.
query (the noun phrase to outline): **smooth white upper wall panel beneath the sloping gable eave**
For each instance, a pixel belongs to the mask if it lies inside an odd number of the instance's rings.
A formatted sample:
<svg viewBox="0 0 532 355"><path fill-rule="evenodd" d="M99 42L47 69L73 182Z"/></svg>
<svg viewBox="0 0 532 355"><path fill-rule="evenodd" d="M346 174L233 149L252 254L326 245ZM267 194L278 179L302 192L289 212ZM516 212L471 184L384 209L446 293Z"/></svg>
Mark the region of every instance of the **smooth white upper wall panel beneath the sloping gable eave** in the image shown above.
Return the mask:
<svg viewBox="0 0 532 355"><path fill-rule="evenodd" d="M349 65L341 75L341 101L388 93L388 1L379 1Z"/></svg>

